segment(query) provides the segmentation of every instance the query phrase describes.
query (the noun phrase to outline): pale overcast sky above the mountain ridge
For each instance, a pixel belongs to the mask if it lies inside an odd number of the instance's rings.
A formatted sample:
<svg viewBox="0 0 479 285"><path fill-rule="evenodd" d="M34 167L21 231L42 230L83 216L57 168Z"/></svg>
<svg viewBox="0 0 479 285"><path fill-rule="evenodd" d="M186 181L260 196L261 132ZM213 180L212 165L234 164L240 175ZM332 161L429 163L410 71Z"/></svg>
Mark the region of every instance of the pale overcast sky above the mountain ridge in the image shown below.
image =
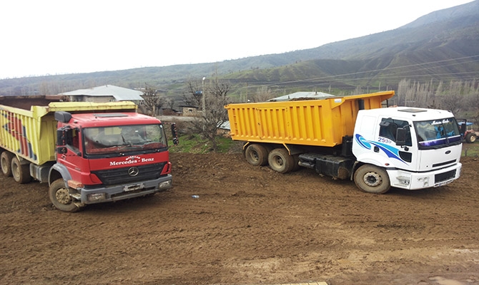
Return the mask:
<svg viewBox="0 0 479 285"><path fill-rule="evenodd" d="M0 78L285 53L471 1L8 0L0 4Z"/></svg>

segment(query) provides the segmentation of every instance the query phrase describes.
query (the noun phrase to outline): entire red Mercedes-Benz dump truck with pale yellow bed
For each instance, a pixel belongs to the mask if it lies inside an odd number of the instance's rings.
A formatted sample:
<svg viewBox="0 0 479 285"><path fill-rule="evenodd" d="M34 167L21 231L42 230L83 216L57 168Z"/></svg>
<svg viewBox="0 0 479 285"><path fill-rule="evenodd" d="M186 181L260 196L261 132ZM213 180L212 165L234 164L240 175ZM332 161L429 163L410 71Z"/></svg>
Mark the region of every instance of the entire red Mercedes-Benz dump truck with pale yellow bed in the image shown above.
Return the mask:
<svg viewBox="0 0 479 285"><path fill-rule="evenodd" d="M61 211L172 187L164 125L132 102L0 105L0 125L3 174L48 183Z"/></svg>

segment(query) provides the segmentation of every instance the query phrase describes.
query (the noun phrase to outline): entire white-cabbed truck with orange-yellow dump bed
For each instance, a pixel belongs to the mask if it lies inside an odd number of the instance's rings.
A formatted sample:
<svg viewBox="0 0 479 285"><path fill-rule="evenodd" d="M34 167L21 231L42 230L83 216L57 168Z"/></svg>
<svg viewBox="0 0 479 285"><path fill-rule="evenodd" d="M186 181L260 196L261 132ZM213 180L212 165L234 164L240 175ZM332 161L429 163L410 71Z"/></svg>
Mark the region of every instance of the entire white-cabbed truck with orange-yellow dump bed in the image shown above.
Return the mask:
<svg viewBox="0 0 479 285"><path fill-rule="evenodd" d="M383 108L394 95L386 91L225 108L230 135L245 142L252 165L270 165L281 173L308 167L354 180L361 190L374 193L391 186L438 187L457 179L462 139L453 114Z"/></svg>

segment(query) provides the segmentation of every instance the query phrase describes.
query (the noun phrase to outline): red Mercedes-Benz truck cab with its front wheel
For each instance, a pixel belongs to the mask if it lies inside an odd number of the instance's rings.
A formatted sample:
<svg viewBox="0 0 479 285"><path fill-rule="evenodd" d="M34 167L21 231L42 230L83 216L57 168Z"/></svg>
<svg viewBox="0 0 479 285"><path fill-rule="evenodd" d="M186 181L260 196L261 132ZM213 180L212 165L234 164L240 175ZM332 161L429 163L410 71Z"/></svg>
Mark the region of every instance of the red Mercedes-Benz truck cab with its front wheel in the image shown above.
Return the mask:
<svg viewBox="0 0 479 285"><path fill-rule="evenodd" d="M57 111L56 163L49 172L54 206L75 212L86 204L154 194L172 187L164 125L139 113Z"/></svg>

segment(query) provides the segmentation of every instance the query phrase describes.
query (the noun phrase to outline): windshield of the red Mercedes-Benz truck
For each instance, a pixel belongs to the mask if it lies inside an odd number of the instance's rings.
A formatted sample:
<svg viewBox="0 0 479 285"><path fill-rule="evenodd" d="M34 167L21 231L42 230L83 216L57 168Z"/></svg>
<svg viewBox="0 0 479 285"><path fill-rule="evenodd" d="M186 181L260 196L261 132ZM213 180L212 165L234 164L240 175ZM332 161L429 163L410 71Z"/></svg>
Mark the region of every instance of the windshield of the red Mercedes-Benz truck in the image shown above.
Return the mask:
<svg viewBox="0 0 479 285"><path fill-rule="evenodd" d="M87 155L135 150L157 150L167 147L162 125L119 125L84 128L84 150Z"/></svg>

